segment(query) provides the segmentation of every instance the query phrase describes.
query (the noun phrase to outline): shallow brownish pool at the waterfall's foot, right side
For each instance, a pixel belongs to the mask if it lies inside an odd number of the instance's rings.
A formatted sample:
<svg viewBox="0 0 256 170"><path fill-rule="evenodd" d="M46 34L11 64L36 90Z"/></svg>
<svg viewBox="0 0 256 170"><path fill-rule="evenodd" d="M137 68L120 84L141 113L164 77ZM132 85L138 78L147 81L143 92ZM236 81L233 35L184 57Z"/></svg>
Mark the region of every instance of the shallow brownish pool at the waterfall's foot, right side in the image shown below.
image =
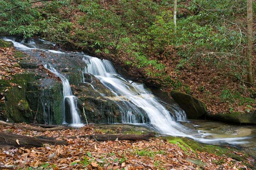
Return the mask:
<svg viewBox="0 0 256 170"><path fill-rule="evenodd" d="M236 138L248 137L243 139L243 144L234 145L239 150L244 150L248 154L256 157L256 126L254 125L234 125L224 122L189 120L199 133L205 133L208 139L216 138Z"/></svg>

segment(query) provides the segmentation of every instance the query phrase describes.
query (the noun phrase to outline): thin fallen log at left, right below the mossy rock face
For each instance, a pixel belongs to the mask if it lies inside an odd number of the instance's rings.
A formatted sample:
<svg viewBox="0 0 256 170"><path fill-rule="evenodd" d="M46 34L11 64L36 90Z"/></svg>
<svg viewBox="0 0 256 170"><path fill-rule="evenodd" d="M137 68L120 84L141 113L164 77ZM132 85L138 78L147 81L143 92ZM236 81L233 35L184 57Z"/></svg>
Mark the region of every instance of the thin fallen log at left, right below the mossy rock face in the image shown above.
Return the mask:
<svg viewBox="0 0 256 170"><path fill-rule="evenodd" d="M4 121L0 121L0 125L20 128L20 129L24 129L24 130L33 130L33 131L38 131L38 132L55 131L55 130L63 130L63 129L71 129L72 128L70 126L56 126L56 127L52 127L52 128L31 127L31 126L24 126L22 124L9 123L9 122L4 122Z"/></svg>

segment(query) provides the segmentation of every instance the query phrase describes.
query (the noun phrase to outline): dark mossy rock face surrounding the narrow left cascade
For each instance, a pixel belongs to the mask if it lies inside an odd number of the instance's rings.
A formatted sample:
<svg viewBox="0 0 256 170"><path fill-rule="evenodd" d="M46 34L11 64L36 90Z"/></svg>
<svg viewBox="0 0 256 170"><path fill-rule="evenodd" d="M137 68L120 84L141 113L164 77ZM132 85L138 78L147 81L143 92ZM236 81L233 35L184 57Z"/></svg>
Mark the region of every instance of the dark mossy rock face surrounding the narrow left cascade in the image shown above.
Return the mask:
<svg viewBox="0 0 256 170"><path fill-rule="evenodd" d="M113 94L93 75L82 74L86 64L80 55L42 53L36 50L26 51L29 55L19 51L13 52L14 57L23 58L19 67L24 69L24 73L14 75L12 80L0 80L0 99L5 99L0 102L1 120L47 124L63 122L62 82L43 67L43 64L48 63L69 80L72 93L77 97L77 110L83 122L86 122L85 119L88 123L122 122L119 106L108 99L113 97ZM65 110L66 120L70 122L67 103Z"/></svg>

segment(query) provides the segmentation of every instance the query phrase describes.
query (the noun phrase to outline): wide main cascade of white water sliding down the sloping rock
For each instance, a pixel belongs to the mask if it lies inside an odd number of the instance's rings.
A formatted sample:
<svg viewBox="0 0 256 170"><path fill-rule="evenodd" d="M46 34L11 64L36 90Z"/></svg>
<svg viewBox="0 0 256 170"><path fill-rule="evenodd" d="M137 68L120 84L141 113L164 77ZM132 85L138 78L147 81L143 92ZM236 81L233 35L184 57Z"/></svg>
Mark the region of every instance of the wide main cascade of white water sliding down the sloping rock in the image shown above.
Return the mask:
<svg viewBox="0 0 256 170"><path fill-rule="evenodd" d="M182 129L186 128L176 122L186 120L184 112L176 112L175 116L172 116L154 95L143 87L143 84L131 83L122 78L108 60L86 56L83 61L87 64L85 72L99 79L115 97L124 99L121 100L122 105L119 104L123 112L123 123L145 123L145 117L147 117L147 122L161 133L185 135Z"/></svg>

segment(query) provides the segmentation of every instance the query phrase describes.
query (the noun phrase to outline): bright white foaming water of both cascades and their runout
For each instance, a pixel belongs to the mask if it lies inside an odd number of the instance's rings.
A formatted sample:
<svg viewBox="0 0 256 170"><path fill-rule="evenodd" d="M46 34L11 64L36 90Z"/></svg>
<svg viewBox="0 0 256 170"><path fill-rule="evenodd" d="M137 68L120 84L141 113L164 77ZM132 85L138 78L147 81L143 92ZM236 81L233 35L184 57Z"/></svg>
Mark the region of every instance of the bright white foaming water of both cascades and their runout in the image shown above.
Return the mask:
<svg viewBox="0 0 256 170"><path fill-rule="evenodd" d="M53 56L56 55L56 53L67 55L70 54L65 51L55 51L39 48L33 41L29 44L30 47L32 46L33 48L30 48L26 46L28 43L22 44L22 42L15 42L14 40L7 38L4 40L12 41L14 46L22 51L31 51L33 49L37 49L49 52ZM230 144L243 144L245 143L243 140L248 138L230 137L207 139L207 137L211 136L211 134L204 133L202 131L195 132L194 130L191 130L186 126L176 122L186 121L186 114L184 111L177 109L177 111L174 111L175 113L170 113L160 104L158 100L155 99L154 95L152 95L150 91L144 88L143 84L137 84L135 82L125 80L123 77L118 75L118 73L115 71L115 68L108 60L100 60L95 57L83 55L82 53L79 55L84 57L83 60L87 64L84 72L95 75L95 77L99 79L100 82L102 82L102 84L104 84L104 86L108 88L115 95L115 97L119 98L122 102L122 105L120 105L121 111L123 112L122 122L134 124L149 123L158 132L174 136L189 137L204 143L226 142ZM52 66L50 66L49 69L62 80L64 96L63 103L65 105L65 99L69 101L70 113L72 114L72 125L82 126L83 124L81 123L79 114L76 110L75 97L72 95L69 81L64 75L58 73L58 71L56 71L56 69L54 69ZM104 97L105 95L102 94L102 96ZM63 109L63 112L65 112L65 108ZM65 115L65 113L63 113L63 115ZM65 123L65 118L63 122ZM109 122L115 122L115 118L110 117Z"/></svg>

